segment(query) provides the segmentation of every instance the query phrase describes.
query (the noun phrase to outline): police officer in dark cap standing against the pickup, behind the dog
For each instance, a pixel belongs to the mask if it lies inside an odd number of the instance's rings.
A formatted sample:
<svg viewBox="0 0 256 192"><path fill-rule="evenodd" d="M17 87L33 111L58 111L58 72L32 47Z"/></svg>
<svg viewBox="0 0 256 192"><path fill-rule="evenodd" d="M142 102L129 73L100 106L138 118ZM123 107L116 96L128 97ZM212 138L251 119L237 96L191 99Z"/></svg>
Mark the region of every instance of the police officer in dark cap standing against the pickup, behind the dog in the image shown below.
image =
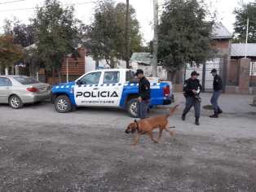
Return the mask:
<svg viewBox="0 0 256 192"><path fill-rule="evenodd" d="M150 83L143 75L142 69L137 70L136 76L139 79L138 115L140 119L145 119L148 115L150 103Z"/></svg>

